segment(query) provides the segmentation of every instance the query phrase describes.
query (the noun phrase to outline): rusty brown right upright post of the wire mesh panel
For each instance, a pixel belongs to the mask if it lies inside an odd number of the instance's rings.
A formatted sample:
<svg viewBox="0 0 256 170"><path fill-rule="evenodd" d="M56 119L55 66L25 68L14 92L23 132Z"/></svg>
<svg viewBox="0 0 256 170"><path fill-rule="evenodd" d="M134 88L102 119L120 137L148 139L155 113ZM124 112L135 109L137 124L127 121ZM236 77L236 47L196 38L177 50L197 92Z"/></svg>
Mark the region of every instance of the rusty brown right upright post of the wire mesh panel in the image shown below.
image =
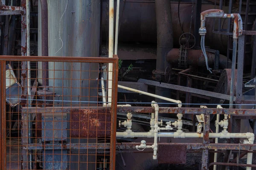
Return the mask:
<svg viewBox="0 0 256 170"><path fill-rule="evenodd" d="M110 146L110 169L115 170L116 163L116 117L117 117L117 82L118 60L113 63L112 74L112 98L111 98L111 146Z"/></svg>

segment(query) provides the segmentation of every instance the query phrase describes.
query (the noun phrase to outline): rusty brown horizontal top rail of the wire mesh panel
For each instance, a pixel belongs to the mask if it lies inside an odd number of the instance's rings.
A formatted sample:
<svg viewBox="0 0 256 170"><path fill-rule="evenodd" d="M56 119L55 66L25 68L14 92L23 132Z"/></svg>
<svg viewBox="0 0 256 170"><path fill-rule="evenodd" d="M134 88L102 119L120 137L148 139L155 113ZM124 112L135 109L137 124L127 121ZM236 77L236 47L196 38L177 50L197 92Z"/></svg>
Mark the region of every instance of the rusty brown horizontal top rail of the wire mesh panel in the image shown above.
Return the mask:
<svg viewBox="0 0 256 170"><path fill-rule="evenodd" d="M26 17L26 16L25 16ZM26 23L26 21L25 21ZM25 27L25 25L24 25ZM24 28L23 28L24 30ZM22 32L22 29L21 29ZM25 48L25 45L23 46ZM25 53L23 53L25 54ZM55 56L1 56L0 61L30 61L30 62L89 62L89 63L114 63L117 58L106 57L55 57Z"/></svg>

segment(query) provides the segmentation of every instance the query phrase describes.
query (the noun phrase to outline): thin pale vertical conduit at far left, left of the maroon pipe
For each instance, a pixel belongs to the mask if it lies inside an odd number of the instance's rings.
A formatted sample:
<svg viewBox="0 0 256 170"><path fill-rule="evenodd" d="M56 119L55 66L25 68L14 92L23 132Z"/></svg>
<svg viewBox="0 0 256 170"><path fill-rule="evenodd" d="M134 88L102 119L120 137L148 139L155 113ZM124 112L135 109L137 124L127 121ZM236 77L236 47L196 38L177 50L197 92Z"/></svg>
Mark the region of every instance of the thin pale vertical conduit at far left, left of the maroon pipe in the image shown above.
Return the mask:
<svg viewBox="0 0 256 170"><path fill-rule="evenodd" d="M30 0L26 0L26 48L27 48L27 56L30 56ZM27 62L27 91L28 91L28 107L31 107L31 73L30 73L30 61ZM32 113L28 115L29 119L29 144L32 143ZM29 168L33 170L33 160L32 153L33 151L29 151Z"/></svg>

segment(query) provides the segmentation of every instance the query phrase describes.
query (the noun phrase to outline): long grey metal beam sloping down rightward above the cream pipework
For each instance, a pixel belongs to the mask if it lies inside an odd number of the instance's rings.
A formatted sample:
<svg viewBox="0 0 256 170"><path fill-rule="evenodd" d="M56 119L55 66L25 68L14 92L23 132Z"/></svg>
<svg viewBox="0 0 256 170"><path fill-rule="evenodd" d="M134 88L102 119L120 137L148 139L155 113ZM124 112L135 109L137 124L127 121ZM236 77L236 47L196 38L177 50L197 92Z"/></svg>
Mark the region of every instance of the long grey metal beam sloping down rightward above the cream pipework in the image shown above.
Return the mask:
<svg viewBox="0 0 256 170"><path fill-rule="evenodd" d="M230 99L230 96L227 94L219 94L219 93L215 93L212 91L200 90L197 88L189 88L189 87L180 86L180 85L159 83L159 82L155 82L152 80L146 80L146 79L139 79L138 82L145 83L146 85L154 85L154 86L163 87L163 88L170 88L170 89L177 90L177 91L185 91L185 92L190 92L190 93L194 93L194 94L201 94L201 95L205 95L205 96L216 97L219 99L225 99L225 100ZM234 100L235 99L236 99L236 97L234 97Z"/></svg>

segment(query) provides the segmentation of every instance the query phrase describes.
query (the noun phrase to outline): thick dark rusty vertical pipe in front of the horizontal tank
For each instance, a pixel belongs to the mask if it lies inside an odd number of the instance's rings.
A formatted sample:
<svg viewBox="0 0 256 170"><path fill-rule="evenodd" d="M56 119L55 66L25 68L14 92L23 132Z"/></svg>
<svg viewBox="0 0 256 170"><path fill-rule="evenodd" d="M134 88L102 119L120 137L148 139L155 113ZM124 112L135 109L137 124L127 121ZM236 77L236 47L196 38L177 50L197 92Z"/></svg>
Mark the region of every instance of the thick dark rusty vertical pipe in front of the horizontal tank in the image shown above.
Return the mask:
<svg viewBox="0 0 256 170"><path fill-rule="evenodd" d="M157 66L156 70L165 71L166 54L173 48L172 34L172 11L169 0L156 0L156 19L157 19ZM156 77L161 75L156 75ZM159 79L159 78L158 78ZM164 88L156 87L156 94L166 96ZM168 94L168 93L167 93ZM161 100L156 99L156 102Z"/></svg>

